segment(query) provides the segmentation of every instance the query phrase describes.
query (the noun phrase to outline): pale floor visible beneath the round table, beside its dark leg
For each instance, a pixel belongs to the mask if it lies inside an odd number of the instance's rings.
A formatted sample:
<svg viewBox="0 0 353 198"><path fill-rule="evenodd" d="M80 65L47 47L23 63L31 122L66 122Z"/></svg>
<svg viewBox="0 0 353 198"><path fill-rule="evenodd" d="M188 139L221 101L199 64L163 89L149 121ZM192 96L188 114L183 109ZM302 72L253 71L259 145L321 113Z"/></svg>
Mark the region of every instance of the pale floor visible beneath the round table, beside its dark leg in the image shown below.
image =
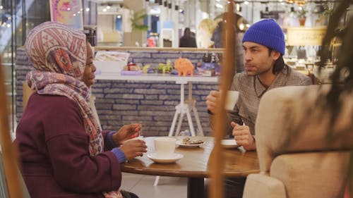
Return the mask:
<svg viewBox="0 0 353 198"><path fill-rule="evenodd" d="M187 179L160 177L153 186L155 176L123 173L121 189L133 192L140 198L183 198L186 197Z"/></svg>

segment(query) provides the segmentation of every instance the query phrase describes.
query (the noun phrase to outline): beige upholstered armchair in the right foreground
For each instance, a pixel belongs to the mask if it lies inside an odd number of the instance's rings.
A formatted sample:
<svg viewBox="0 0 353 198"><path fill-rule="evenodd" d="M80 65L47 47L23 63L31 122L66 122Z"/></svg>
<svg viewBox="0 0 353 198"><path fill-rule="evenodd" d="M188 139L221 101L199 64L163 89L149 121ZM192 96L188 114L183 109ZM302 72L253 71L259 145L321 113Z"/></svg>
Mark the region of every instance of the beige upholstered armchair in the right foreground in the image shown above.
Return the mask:
<svg viewBox="0 0 353 198"><path fill-rule="evenodd" d="M353 94L344 97L337 123L328 131L329 113L316 107L316 99L329 86L281 87L263 96L256 120L261 173L248 176L243 198L343 197Z"/></svg>

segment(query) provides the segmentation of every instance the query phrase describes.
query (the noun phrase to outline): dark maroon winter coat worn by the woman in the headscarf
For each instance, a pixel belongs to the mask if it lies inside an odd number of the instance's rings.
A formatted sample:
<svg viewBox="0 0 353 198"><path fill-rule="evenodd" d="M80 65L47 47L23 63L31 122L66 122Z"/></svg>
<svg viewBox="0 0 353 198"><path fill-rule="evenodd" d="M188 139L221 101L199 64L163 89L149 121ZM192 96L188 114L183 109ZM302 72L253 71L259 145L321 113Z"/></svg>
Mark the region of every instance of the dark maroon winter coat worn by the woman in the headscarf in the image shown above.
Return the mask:
<svg viewBox="0 0 353 198"><path fill-rule="evenodd" d="M90 156L88 140L74 101L32 94L16 130L21 171L30 196L97 198L103 197L104 191L118 189L118 159L111 151Z"/></svg>

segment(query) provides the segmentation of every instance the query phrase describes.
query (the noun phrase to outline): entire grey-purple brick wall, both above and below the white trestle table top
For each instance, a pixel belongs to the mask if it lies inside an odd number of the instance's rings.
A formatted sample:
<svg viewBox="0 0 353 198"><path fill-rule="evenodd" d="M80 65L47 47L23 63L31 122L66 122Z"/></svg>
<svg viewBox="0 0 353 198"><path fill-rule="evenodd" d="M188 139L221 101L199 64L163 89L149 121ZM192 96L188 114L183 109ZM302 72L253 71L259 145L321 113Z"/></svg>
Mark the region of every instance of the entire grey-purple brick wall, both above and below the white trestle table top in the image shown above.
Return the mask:
<svg viewBox="0 0 353 198"><path fill-rule="evenodd" d="M174 61L179 57L189 58L193 63L197 63L201 62L203 53L205 53L201 50L177 51L175 49L170 51L164 49L123 50L131 53L129 61L144 64L165 63L167 59ZM16 57L17 121L20 120L23 112L22 85L25 74L30 68L24 49L18 49ZM187 95L188 86L185 87ZM205 97L211 89L217 89L217 85L210 82L193 82L193 97L197 101L196 107L205 135L210 135ZM92 94L96 97L95 105L104 130L117 130L121 125L128 123L141 123L145 136L168 135L175 106L179 104L180 85L175 82L97 80L92 86ZM191 115L193 116L193 113ZM194 117L193 121L196 130ZM181 130L186 129L189 129L189 125L184 116Z"/></svg>

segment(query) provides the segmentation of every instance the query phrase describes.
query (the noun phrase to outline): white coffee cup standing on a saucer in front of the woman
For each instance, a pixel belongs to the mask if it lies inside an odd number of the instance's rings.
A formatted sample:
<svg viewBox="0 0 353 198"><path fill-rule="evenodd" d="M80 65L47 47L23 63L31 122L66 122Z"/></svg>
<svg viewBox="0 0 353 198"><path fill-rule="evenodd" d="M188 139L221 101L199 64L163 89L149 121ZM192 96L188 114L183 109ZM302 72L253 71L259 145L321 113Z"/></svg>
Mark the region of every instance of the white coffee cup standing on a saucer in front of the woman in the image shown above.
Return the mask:
<svg viewBox="0 0 353 198"><path fill-rule="evenodd" d="M156 137L155 138L155 153L160 159L172 158L175 151L176 139L172 137Z"/></svg>

